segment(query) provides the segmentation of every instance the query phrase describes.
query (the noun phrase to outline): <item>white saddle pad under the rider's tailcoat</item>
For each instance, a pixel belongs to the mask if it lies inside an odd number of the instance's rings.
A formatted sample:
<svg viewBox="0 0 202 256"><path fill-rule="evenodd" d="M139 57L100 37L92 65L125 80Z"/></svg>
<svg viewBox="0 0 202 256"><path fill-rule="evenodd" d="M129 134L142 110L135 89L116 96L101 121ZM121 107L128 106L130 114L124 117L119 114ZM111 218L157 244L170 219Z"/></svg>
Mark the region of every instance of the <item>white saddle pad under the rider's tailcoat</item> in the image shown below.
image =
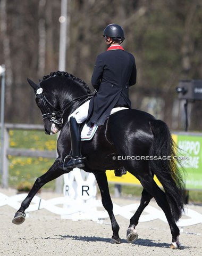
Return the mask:
<svg viewBox="0 0 202 256"><path fill-rule="evenodd" d="M128 109L128 108L124 108L124 107L113 108L110 115L116 113L117 111L123 110L123 109ZM81 140L91 140L92 137L94 137L94 134L96 133L97 129L98 129L98 125L96 125L96 124L94 124L90 127L87 124L85 124L81 131Z"/></svg>

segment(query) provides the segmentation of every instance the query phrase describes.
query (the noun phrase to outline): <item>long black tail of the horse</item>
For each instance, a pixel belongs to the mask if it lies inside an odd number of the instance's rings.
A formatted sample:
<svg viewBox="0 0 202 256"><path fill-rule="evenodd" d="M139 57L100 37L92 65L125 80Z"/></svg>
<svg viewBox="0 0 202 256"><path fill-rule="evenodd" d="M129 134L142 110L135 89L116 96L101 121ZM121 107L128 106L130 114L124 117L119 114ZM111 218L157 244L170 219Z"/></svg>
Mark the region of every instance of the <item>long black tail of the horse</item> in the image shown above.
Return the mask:
<svg viewBox="0 0 202 256"><path fill-rule="evenodd" d="M161 182L173 218L178 221L183 211L185 183L183 171L179 170L178 161L174 159L177 147L163 121L153 120L150 127L154 134L154 142L149 156L158 157L158 160L149 161L149 167Z"/></svg>

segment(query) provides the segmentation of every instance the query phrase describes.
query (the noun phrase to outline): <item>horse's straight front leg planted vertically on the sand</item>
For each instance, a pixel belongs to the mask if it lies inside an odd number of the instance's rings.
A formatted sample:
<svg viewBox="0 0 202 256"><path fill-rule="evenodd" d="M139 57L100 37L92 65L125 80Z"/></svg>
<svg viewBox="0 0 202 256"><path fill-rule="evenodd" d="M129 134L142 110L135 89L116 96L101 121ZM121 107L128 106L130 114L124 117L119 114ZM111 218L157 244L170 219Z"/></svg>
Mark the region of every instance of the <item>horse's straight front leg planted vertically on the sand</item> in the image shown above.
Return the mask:
<svg viewBox="0 0 202 256"><path fill-rule="evenodd" d="M113 235L112 235L111 242L120 244L121 239L119 237L119 225L114 217L113 204L112 204L112 199L110 196L110 191L108 188L106 173L102 172L102 173L94 173L94 174L95 174L95 178L97 180L97 183L98 183L98 186L100 189L100 193L102 196L103 206L104 206L105 210L108 212L108 214L110 216L111 223L112 223Z"/></svg>

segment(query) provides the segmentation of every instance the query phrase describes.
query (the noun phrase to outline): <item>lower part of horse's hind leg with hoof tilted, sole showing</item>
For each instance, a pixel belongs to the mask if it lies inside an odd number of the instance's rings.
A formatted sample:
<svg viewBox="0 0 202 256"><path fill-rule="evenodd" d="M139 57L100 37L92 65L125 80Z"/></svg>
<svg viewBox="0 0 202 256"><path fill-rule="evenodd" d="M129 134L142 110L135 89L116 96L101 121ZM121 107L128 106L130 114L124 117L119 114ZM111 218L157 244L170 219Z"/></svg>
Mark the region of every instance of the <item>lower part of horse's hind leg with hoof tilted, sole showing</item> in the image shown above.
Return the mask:
<svg viewBox="0 0 202 256"><path fill-rule="evenodd" d="M138 233L136 230L136 226L138 225L139 218L141 213L144 211L145 207L149 204L150 200L153 198L152 195L150 195L145 189L142 190L142 196L140 200L140 205L130 219L130 225L127 229L127 242L133 243L138 238Z"/></svg>

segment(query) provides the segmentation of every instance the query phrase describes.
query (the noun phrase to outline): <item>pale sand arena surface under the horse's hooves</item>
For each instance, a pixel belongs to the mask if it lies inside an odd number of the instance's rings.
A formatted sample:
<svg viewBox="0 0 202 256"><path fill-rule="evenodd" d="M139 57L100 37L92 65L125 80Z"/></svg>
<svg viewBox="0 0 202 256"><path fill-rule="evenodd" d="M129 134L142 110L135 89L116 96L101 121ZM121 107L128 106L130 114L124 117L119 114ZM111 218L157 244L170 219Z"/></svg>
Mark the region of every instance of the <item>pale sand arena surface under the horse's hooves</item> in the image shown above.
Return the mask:
<svg viewBox="0 0 202 256"><path fill-rule="evenodd" d="M12 196L15 190L0 189L0 192ZM58 197L55 193L41 193L41 198ZM134 199L117 199L118 205L139 203ZM155 201L150 205L157 207ZM189 205L189 209L202 214L202 206ZM155 256L200 256L202 255L202 223L184 227L180 235L181 250L170 250L171 233L169 225L161 220L140 222L137 226L139 238L134 244L126 241L129 220L116 216L120 226L121 244L111 244L111 223L105 219L102 225L90 220L64 220L60 215L45 209L30 212L29 218L21 225L11 223L15 209L6 205L0 207L1 242L0 255L21 256L67 256L67 255L155 255Z"/></svg>

